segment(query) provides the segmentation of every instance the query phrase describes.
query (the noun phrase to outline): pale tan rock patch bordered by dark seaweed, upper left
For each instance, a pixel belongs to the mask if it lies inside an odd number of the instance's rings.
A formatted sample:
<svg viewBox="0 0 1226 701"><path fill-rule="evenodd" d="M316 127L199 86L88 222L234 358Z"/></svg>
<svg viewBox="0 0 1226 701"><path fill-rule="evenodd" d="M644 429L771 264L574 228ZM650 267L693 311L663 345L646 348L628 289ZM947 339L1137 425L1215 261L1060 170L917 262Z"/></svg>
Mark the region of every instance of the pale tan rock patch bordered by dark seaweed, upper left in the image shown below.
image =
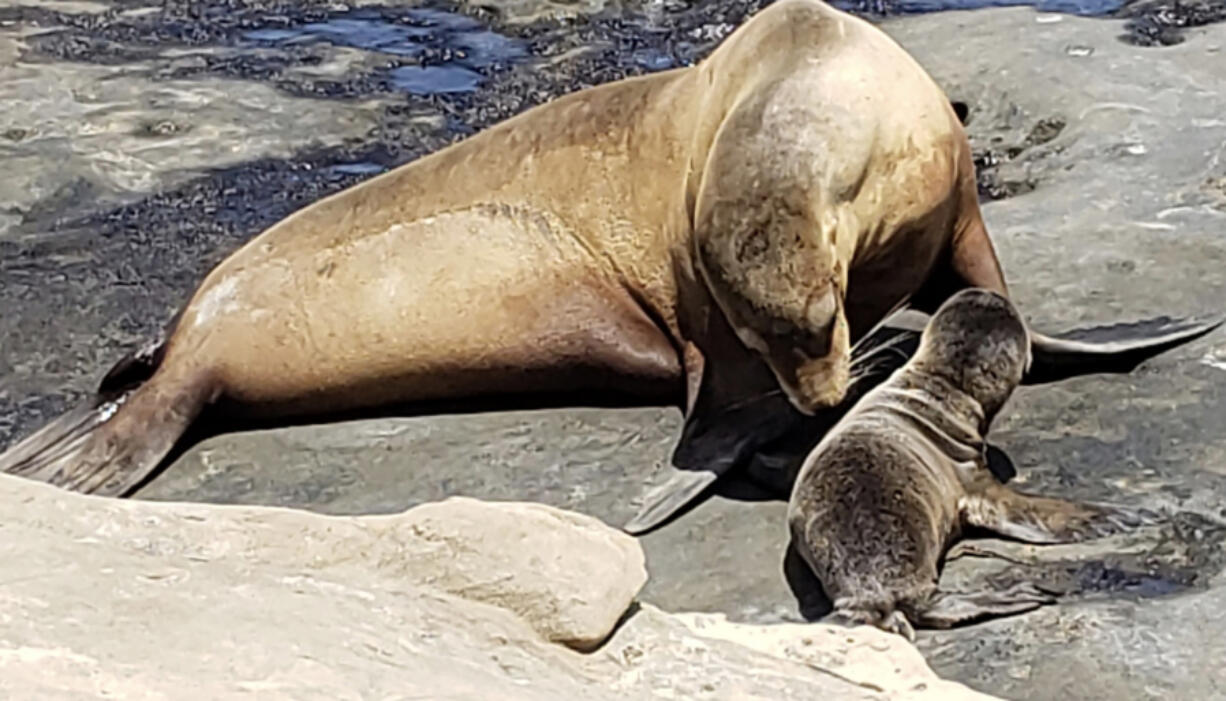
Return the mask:
<svg viewBox="0 0 1226 701"><path fill-rule="evenodd" d="M371 104L288 97L234 80L153 81L150 66L28 63L0 31L0 241L183 184L206 169L337 146ZM4 212L12 212L5 214Z"/></svg>

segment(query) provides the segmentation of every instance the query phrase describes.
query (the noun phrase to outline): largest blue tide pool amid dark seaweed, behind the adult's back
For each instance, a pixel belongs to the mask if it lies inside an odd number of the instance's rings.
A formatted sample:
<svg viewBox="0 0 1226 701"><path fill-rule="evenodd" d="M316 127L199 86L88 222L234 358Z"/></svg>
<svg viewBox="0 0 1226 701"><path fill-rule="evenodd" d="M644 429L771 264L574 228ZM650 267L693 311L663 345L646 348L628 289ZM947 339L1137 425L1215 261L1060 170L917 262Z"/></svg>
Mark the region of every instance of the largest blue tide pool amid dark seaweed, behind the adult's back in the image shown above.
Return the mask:
<svg viewBox="0 0 1226 701"><path fill-rule="evenodd" d="M389 82L412 94L465 93L483 82L482 69L527 55L524 42L499 34L477 20L430 9L387 15L353 10L298 27L261 27L242 38L257 45L288 47L325 42L416 60L389 71Z"/></svg>

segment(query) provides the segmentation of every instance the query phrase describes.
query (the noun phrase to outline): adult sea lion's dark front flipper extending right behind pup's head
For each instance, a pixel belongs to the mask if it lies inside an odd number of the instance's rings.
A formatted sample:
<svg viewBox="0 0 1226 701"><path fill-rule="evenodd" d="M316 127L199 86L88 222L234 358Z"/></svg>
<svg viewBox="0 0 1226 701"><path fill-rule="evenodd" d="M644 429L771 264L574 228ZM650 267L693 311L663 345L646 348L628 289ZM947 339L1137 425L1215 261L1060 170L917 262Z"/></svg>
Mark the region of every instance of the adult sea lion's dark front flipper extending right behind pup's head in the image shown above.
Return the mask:
<svg viewBox="0 0 1226 701"><path fill-rule="evenodd" d="M1170 317L1079 328L1063 337L1031 331L1030 370L1022 384L1037 385L1091 373L1129 373L1145 360L1200 338L1226 319L1193 322Z"/></svg>

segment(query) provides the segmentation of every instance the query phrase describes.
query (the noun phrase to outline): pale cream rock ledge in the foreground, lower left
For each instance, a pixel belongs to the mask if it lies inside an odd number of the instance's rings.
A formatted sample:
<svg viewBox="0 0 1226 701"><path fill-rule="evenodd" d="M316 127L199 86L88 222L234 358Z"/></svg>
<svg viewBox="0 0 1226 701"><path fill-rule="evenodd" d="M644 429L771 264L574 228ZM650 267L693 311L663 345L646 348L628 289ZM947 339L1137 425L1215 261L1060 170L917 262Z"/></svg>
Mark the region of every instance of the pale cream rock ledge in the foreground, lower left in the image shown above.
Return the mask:
<svg viewBox="0 0 1226 701"><path fill-rule="evenodd" d="M4 476L0 509L5 699L989 699L875 629L640 605L639 543L538 504L337 517Z"/></svg>

